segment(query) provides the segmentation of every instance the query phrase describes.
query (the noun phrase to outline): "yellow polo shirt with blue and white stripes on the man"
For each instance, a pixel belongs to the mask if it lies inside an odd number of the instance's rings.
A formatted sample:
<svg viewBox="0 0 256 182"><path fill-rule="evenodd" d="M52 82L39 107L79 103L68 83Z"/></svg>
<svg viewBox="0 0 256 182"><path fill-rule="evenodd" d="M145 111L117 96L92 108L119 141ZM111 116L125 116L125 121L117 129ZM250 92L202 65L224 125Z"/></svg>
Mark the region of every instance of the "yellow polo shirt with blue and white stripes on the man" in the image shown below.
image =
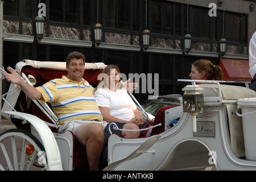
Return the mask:
<svg viewBox="0 0 256 182"><path fill-rule="evenodd" d="M72 120L103 121L102 114L93 96L92 86L84 79L80 83L67 77L57 78L39 86L43 102L51 102L59 124Z"/></svg>

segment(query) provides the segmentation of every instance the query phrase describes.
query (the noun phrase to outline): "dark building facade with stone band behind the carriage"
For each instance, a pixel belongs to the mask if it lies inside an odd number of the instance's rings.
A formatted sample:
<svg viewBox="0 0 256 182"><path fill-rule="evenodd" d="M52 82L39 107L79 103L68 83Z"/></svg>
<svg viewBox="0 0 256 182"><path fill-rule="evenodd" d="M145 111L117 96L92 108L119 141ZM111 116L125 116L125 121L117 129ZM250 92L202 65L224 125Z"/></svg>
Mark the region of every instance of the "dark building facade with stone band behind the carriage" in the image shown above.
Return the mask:
<svg viewBox="0 0 256 182"><path fill-rule="evenodd" d="M158 79L158 94L181 94L191 63L208 59L220 64L220 39L227 40L225 59L248 60L256 30L256 1L225 0L13 0L3 5L3 66L23 59L65 61L80 51L86 61L117 64L121 72ZM45 5L45 6L44 6ZM147 9L146 9L147 7ZM35 17L43 14L44 38L36 39ZM102 24L102 42L94 42L94 24ZM145 51L144 29L150 30ZM184 35L192 36L184 52ZM156 75L157 74L157 75ZM139 84L145 84L140 81ZM9 83L3 82L3 92ZM154 86L137 90L139 102ZM150 89L151 88L151 89Z"/></svg>

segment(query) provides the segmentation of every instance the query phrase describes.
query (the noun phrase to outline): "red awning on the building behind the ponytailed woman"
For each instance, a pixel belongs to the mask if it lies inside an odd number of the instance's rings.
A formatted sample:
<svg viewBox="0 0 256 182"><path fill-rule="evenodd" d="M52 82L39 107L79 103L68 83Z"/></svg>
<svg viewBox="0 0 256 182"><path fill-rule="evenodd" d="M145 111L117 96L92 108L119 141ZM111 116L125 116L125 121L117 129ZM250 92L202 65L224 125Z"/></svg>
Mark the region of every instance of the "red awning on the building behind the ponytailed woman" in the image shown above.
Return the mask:
<svg viewBox="0 0 256 182"><path fill-rule="evenodd" d="M220 59L224 81L251 81L248 60Z"/></svg>

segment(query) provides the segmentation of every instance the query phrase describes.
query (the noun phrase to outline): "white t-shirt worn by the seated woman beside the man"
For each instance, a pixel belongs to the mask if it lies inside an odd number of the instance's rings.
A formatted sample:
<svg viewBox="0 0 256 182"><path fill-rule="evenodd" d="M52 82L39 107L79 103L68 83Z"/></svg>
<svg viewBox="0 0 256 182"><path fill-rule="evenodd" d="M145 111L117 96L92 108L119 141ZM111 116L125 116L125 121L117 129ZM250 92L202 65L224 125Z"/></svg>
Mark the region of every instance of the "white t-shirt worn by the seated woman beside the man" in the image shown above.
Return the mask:
<svg viewBox="0 0 256 182"><path fill-rule="evenodd" d="M130 121L135 117L133 111L137 107L125 89L118 89L117 92L113 92L108 88L99 88L94 93L94 97L98 106L109 107L110 115L113 117L125 121Z"/></svg>

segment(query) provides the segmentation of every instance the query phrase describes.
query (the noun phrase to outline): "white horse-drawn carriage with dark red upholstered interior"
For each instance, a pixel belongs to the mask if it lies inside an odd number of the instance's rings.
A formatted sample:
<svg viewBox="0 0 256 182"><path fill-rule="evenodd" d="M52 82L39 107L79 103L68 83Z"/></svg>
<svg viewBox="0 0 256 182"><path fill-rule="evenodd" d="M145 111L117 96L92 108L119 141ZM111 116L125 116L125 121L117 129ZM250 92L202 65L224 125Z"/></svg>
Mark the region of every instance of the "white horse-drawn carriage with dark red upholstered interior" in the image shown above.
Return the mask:
<svg viewBox="0 0 256 182"><path fill-rule="evenodd" d="M65 74L34 67L18 63L16 69L35 86ZM97 85L101 71L86 71L85 79ZM192 82L184 88L183 103L158 111L154 121L156 127L150 137L110 136L109 165L104 170L256 169L256 92L218 81L180 81ZM0 135L0 152L6 159L6 163L0 163L1 170L88 169L85 148L75 142L71 132L57 133L55 115L51 109L48 117L43 112L48 106L40 106L40 102L34 104L13 84L4 96L2 115L17 129ZM170 126L175 118L180 118L179 122ZM16 145L20 142L22 149L17 150ZM12 154L6 151L8 144L11 144ZM34 152L26 154L31 144Z"/></svg>

